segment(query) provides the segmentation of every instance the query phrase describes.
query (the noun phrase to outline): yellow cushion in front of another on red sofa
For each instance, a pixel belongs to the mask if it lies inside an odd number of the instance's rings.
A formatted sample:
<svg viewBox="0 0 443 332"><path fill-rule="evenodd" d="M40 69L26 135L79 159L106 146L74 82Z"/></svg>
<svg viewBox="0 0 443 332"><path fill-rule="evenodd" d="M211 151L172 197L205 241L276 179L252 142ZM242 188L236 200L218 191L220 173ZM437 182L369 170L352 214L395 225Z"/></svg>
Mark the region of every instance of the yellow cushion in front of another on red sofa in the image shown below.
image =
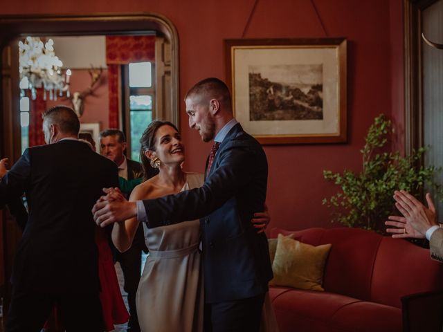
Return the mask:
<svg viewBox="0 0 443 332"><path fill-rule="evenodd" d="M278 234L270 284L324 291L323 271L330 244L311 246Z"/></svg>

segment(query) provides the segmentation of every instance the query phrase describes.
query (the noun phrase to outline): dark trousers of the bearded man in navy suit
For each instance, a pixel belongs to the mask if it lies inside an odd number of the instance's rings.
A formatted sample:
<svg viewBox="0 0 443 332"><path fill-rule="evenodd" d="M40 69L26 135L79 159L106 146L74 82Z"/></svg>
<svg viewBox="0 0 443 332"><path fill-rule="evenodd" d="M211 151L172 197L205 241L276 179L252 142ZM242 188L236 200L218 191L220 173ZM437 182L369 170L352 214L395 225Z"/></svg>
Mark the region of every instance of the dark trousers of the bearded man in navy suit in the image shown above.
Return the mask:
<svg viewBox="0 0 443 332"><path fill-rule="evenodd" d="M264 294L247 299L205 304L205 332L258 332Z"/></svg>

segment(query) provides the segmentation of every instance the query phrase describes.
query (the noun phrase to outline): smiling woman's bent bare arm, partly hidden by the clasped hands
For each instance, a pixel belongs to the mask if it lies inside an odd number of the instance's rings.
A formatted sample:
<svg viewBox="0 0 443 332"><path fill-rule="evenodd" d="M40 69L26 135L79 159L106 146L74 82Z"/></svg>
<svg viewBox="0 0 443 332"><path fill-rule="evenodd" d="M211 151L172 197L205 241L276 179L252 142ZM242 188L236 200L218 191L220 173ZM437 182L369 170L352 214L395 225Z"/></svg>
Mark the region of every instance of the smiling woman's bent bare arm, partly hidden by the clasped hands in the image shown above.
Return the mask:
<svg viewBox="0 0 443 332"><path fill-rule="evenodd" d="M129 201L137 201L141 199L142 190L140 186L137 186L129 197ZM114 223L112 228L111 238L112 243L116 246L117 250L120 252L125 252L132 246L132 241L134 241L134 236L136 234L139 222L137 218L127 219L121 221L120 223Z"/></svg>

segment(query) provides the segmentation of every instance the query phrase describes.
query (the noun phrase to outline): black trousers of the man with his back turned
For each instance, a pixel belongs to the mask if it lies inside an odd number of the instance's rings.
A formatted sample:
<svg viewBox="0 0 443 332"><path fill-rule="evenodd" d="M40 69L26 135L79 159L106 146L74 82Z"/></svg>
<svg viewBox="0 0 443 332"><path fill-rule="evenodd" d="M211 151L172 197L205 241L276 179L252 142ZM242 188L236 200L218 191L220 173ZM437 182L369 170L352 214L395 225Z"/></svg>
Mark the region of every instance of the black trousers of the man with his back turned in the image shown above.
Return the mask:
<svg viewBox="0 0 443 332"><path fill-rule="evenodd" d="M103 315L99 293L47 295L12 290L12 300L6 322L7 332L39 332L53 309L67 332L102 332Z"/></svg>

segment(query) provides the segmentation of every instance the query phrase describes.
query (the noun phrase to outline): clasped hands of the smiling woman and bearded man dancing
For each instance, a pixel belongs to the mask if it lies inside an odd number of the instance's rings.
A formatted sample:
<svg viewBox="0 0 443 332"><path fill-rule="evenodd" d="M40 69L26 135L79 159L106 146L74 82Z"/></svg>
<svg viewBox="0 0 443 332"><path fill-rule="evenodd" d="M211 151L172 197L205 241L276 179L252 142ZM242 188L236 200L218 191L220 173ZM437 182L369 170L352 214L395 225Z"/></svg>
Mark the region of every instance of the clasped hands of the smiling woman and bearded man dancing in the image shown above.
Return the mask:
<svg viewBox="0 0 443 332"><path fill-rule="evenodd" d="M136 202L128 202L118 188L105 188L106 196L101 196L92 208L94 221L100 227L119 223L137 215Z"/></svg>

